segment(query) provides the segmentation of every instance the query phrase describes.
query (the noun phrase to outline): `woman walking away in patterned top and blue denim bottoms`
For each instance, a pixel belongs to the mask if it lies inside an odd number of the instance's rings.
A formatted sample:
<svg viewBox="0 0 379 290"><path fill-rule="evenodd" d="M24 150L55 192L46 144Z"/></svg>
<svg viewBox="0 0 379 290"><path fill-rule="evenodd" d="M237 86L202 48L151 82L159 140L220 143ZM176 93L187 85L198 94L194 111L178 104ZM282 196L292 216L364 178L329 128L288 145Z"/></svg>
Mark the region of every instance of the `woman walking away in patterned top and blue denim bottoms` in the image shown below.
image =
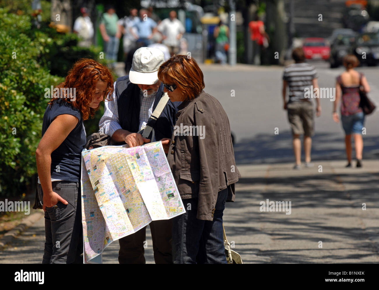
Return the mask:
<svg viewBox="0 0 379 290"><path fill-rule="evenodd" d="M357 167L362 167L362 152L363 152L363 138L362 128L365 124L365 114L362 108L359 107L360 96L359 90L366 93L370 92L366 77L363 73L354 70L359 65L359 60L353 54L348 54L343 58L343 65L346 71L337 77L335 85L336 96L333 106L333 120L339 123L340 118L337 113L338 103L341 100L341 121L342 127L345 131L345 146L346 157L348 164L346 167L351 167L352 146L351 135L354 136L354 144L356 150Z"/></svg>

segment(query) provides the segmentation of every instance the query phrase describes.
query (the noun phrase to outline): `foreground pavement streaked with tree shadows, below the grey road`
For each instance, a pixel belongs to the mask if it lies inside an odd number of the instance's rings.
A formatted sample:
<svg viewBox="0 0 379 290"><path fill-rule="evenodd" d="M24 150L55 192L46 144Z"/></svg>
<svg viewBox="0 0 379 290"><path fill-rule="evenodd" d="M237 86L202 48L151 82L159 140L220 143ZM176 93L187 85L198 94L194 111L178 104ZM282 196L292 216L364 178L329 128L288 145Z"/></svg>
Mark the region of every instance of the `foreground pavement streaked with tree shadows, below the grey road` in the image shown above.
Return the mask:
<svg viewBox="0 0 379 290"><path fill-rule="evenodd" d="M314 165L301 171L292 163L238 166L242 178L236 202L226 205L224 225L244 263L379 262L379 162L363 160L360 169L345 168L345 161ZM291 214L261 212L266 199L291 201ZM153 263L147 229L145 257ZM42 217L0 251L0 264L41 263L43 248ZM117 263L118 250L118 242L106 248L104 263Z"/></svg>

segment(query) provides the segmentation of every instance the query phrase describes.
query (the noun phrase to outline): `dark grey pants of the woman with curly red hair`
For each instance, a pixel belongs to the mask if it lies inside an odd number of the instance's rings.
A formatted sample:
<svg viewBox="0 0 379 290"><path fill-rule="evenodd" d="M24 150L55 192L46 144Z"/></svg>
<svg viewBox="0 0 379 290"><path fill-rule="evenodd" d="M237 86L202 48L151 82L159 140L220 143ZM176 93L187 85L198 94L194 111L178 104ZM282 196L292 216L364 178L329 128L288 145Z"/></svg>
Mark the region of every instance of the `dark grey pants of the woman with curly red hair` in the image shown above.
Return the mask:
<svg viewBox="0 0 379 290"><path fill-rule="evenodd" d="M58 202L45 211L45 249L42 264L83 264L83 228L79 183L54 181L53 191L68 204ZM42 187L38 194L43 200Z"/></svg>

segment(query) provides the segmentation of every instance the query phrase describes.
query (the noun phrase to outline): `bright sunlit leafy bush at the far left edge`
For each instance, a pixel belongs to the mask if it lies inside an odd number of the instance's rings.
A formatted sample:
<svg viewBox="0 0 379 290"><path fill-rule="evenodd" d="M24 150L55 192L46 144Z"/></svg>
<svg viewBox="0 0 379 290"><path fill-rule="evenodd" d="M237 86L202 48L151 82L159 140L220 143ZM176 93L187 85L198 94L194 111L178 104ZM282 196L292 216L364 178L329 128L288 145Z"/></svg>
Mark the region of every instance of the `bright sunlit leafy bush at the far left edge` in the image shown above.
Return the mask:
<svg viewBox="0 0 379 290"><path fill-rule="evenodd" d="M35 150L41 138L47 100L44 88L58 84L38 64L43 44L28 37L30 17L0 9L0 194L22 194L36 173Z"/></svg>

